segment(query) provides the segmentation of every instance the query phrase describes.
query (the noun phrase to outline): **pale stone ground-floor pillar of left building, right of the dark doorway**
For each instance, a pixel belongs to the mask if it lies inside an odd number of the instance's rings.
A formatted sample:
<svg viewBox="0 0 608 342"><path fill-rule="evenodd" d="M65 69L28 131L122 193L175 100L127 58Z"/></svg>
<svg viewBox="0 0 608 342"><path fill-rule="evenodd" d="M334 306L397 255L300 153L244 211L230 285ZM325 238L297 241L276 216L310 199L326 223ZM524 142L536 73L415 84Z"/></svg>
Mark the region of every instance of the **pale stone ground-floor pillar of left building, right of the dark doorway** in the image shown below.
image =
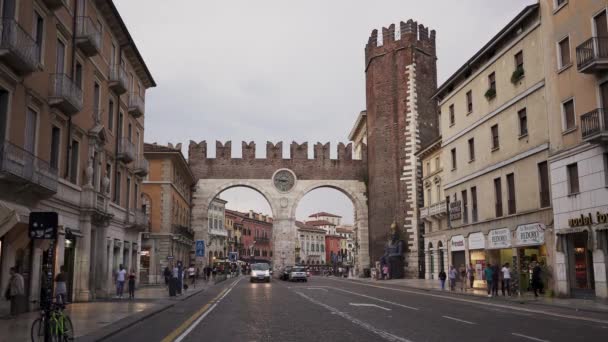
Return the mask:
<svg viewBox="0 0 608 342"><path fill-rule="evenodd" d="M84 215L80 218L80 231L82 238L76 243L76 256L74 267L74 300L88 302L91 298L89 290L89 277L91 274L91 216ZM99 259L97 259L99 260ZM93 272L94 274L94 272Z"/></svg>

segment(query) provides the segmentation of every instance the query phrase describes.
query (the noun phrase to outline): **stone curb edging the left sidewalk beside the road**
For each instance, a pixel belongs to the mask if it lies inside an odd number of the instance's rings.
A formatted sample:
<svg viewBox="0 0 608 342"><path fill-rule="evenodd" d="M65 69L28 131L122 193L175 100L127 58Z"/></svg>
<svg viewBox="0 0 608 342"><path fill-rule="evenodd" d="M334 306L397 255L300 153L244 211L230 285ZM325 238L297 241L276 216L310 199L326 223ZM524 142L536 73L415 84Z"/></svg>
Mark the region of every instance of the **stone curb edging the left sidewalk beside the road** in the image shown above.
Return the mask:
<svg viewBox="0 0 608 342"><path fill-rule="evenodd" d="M185 301L186 299L195 296L199 293L202 293L204 291L206 291L208 289L208 287L206 288L202 288L199 291L196 292L192 292L192 293L188 293L188 294L184 294L181 297L178 297L176 299L162 299L159 300L159 307L156 308L150 308L141 312L138 312L134 315L130 315L127 316L121 320L118 320L114 323L110 323L105 327L102 327L100 329L97 329L91 333L88 333L84 336L81 337L77 337L76 340L78 342L89 342L89 341L102 341L105 340L109 337L112 337L116 334L118 334L119 332L128 329L132 326L134 326L135 324L148 319L158 313L161 313L167 309L170 309L172 307L174 307L175 305L177 305L180 302Z"/></svg>

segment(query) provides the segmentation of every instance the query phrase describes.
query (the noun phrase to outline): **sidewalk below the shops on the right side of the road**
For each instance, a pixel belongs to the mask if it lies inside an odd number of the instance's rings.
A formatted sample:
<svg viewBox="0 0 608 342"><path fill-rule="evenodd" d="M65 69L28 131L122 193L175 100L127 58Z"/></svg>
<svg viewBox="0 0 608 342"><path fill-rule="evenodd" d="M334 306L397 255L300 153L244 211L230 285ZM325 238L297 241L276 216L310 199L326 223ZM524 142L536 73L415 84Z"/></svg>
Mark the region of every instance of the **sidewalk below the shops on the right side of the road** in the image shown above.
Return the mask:
<svg viewBox="0 0 608 342"><path fill-rule="evenodd" d="M394 279L394 280L373 280L371 278L349 278L352 281L366 282L374 285L398 285L411 289L425 290L431 292L439 292L445 294L454 294L461 296L471 296L488 299L488 293L484 289L467 289L464 292L460 289L461 283L456 285L456 291L450 291L446 282L446 290L441 290L439 280L430 279ZM552 298L538 297L535 298L533 293L524 293L521 296L503 297L500 288L498 289L499 296L492 300L500 300L513 302L518 304L534 304L547 305L560 308L568 308L579 311L589 311L598 313L608 313L608 300L604 299L575 299L575 298Z"/></svg>

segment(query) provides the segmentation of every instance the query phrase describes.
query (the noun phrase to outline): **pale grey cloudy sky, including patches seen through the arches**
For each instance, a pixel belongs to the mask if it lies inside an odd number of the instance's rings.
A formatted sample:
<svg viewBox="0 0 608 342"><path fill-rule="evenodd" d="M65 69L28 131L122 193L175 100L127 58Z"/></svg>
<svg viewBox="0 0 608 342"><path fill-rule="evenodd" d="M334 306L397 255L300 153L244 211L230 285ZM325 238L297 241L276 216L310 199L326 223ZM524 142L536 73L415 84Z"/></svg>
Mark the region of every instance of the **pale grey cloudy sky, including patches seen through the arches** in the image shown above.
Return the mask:
<svg viewBox="0 0 608 342"><path fill-rule="evenodd" d="M331 142L348 139L365 108L363 49L372 29L412 18L437 31L441 83L535 0L114 0L158 87L146 95L147 142ZM288 157L289 148L286 148ZM332 151L332 156L336 152ZM210 155L214 156L214 148ZM309 152L312 156L312 151ZM229 207L268 212L250 191ZM317 190L298 218L352 205Z"/></svg>

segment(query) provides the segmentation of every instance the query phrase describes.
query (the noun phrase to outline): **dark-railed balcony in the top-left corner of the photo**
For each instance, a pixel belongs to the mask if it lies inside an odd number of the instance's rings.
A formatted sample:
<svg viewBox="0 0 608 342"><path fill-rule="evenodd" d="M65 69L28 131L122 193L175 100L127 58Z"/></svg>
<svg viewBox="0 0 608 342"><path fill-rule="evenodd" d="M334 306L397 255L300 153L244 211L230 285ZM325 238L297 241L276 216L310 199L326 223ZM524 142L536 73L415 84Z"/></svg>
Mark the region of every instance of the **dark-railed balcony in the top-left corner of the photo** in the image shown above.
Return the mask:
<svg viewBox="0 0 608 342"><path fill-rule="evenodd" d="M40 47L13 19L2 19L0 26L0 59L19 75L38 68Z"/></svg>

